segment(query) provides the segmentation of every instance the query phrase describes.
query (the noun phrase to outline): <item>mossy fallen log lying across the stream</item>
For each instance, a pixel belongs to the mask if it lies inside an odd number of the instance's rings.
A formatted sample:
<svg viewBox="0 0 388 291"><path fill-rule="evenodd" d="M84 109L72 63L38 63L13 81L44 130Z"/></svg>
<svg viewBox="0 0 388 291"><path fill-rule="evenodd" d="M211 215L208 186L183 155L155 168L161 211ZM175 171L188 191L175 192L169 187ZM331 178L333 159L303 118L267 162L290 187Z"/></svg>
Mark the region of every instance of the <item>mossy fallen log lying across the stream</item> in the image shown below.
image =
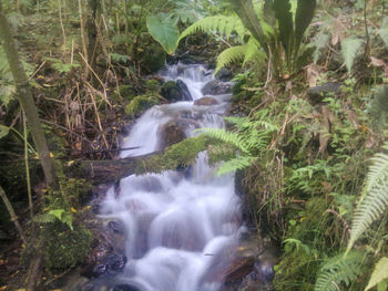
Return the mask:
<svg viewBox="0 0 388 291"><path fill-rule="evenodd" d="M68 177L84 178L92 184L114 183L133 174L162 173L187 166L195 160L200 152L206 149L207 145L206 137L193 137L172 145L164 152L143 156L69 162L65 172Z"/></svg>

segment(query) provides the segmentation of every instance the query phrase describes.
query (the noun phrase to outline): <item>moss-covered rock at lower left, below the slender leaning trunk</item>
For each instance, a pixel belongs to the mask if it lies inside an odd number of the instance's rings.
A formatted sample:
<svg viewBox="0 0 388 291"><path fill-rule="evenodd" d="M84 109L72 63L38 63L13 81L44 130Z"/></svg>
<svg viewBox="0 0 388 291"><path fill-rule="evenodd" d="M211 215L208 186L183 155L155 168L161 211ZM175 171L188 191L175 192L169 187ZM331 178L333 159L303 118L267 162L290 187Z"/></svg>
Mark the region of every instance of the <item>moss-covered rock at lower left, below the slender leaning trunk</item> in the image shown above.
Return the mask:
<svg viewBox="0 0 388 291"><path fill-rule="evenodd" d="M52 270L67 270L86 259L93 237L84 226L74 226L71 230L62 222L53 225L47 240L47 260Z"/></svg>

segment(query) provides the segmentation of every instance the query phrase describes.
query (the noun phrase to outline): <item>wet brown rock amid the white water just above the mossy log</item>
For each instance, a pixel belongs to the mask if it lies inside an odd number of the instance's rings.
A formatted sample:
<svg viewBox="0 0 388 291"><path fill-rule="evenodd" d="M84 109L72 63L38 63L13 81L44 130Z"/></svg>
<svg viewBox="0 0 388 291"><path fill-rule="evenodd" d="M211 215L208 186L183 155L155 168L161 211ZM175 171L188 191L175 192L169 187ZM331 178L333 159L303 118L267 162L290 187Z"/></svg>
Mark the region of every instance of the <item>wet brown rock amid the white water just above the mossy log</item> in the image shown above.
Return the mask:
<svg viewBox="0 0 388 291"><path fill-rule="evenodd" d="M185 138L184 126L182 123L171 121L159 126L157 136L160 138L159 148L164 149L165 147L180 143Z"/></svg>

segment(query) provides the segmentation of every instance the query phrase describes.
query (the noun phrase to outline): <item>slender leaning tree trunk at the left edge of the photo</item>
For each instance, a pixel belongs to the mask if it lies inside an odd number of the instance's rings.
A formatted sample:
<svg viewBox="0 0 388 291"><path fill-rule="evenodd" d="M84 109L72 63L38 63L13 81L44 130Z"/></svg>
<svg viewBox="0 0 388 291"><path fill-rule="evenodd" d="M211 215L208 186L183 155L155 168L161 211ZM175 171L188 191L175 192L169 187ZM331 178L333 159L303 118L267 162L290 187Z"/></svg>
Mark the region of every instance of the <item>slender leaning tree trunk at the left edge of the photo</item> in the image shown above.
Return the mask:
<svg viewBox="0 0 388 291"><path fill-rule="evenodd" d="M55 175L50 158L50 152L43 129L39 119L38 108L32 97L31 87L23 70L22 63L19 59L16 41L13 33L6 18L2 4L0 1L0 39L4 48L7 60L12 72L12 76L16 83L17 95L20 101L23 111L25 112L27 119L31 129L33 143L39 154L39 159L42 164L47 183L51 186L55 184Z"/></svg>

